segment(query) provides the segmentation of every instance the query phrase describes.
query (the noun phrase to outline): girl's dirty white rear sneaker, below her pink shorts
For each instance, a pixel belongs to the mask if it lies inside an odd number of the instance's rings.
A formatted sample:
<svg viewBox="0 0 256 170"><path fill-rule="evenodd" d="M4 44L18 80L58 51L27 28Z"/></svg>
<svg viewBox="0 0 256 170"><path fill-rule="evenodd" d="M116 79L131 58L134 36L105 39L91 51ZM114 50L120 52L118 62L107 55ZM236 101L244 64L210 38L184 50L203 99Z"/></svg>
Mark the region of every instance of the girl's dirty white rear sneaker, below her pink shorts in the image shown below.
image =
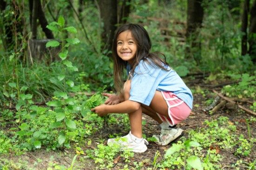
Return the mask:
<svg viewBox="0 0 256 170"><path fill-rule="evenodd" d="M153 135L153 137L156 139L154 142L157 145L168 145L170 142L182 135L182 129L169 127L169 125L167 126L166 123L161 124L160 135Z"/></svg>

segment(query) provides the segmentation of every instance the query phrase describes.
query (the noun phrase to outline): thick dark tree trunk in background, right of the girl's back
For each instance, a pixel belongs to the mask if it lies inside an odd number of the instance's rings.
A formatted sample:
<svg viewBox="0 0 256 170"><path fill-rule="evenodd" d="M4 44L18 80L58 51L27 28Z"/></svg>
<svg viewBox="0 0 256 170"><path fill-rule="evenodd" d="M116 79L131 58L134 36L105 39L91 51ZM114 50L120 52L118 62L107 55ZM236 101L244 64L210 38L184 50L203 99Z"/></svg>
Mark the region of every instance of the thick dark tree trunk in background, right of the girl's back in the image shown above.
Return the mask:
<svg viewBox="0 0 256 170"><path fill-rule="evenodd" d="M202 27L203 8L201 6L202 0L187 0L188 16L187 16L187 42L191 44L190 49L187 49L187 55L194 57L196 63L199 65L201 61L201 42L197 40L199 35L198 28ZM188 56L187 56L188 57Z"/></svg>

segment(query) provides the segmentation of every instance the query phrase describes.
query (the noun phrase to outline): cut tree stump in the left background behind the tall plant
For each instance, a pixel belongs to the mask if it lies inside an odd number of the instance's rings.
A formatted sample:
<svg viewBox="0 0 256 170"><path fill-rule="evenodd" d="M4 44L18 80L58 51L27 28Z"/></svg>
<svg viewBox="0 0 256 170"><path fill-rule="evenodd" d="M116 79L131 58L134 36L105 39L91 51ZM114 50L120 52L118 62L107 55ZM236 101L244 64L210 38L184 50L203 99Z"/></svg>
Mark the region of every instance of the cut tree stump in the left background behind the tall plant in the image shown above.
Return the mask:
<svg viewBox="0 0 256 170"><path fill-rule="evenodd" d="M58 54L61 52L61 45L54 48L46 48L47 42L52 39L29 39L28 40L28 48L27 48L27 56L29 61L34 64L34 62L42 62L52 63L57 60L59 57Z"/></svg>

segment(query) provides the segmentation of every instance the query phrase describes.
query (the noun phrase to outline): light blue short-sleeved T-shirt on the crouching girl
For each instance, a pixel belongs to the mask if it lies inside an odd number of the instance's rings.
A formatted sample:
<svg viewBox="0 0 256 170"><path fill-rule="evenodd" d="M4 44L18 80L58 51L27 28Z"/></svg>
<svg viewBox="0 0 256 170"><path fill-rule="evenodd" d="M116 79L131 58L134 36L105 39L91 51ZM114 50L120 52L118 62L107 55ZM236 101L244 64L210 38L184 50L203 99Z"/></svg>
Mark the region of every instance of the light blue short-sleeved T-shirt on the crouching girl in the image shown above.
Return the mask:
<svg viewBox="0 0 256 170"><path fill-rule="evenodd" d="M157 66L154 67L141 60L131 79L129 100L149 106L156 90L170 91L192 109L193 96L191 90L173 69L169 66L166 66L166 68L169 71L157 68ZM127 73L130 70L131 66L128 64Z"/></svg>

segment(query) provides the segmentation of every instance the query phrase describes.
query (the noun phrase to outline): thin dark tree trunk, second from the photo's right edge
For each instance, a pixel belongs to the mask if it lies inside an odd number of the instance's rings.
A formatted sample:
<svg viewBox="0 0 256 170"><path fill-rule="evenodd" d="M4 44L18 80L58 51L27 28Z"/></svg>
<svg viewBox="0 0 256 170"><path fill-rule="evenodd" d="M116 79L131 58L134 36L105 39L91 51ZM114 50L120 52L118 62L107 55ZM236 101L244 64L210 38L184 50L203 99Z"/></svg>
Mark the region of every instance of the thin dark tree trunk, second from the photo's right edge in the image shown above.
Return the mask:
<svg viewBox="0 0 256 170"><path fill-rule="evenodd" d="M249 13L250 0L244 0L243 16L242 16L242 55L247 54L247 26L248 26L248 13Z"/></svg>

